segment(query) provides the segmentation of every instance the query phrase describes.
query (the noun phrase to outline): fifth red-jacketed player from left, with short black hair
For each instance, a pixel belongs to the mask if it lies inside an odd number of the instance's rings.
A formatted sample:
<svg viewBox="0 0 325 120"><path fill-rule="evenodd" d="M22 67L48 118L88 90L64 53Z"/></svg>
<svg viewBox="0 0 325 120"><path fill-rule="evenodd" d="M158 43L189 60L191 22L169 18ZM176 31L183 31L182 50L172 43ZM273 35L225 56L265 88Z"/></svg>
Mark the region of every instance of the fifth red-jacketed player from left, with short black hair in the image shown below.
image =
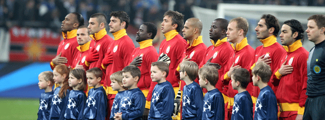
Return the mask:
<svg viewBox="0 0 325 120"><path fill-rule="evenodd" d="M140 47L137 47L132 52L132 57L129 60L130 65L138 66L141 71L138 88L142 90L146 97L146 109L144 111L144 119L148 118L148 113L151 103L152 90L156 82L152 82L150 76L151 63L158 60L158 52L152 46L153 38L157 34L157 27L153 23L143 23L136 34L136 42Z"/></svg>

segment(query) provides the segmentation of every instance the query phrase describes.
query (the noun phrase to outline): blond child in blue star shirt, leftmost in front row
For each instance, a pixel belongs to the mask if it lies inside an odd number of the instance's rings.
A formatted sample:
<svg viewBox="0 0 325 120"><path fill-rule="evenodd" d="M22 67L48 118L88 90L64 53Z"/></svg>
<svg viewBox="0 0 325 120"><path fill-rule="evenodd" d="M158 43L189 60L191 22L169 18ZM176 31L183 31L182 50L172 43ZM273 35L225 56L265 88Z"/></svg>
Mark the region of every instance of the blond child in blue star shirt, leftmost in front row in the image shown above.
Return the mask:
<svg viewBox="0 0 325 120"><path fill-rule="evenodd" d="M39 98L39 109L37 120L49 120L49 110L51 109L51 103L53 98L52 86L54 85L53 73L50 71L42 72L38 75L38 87L41 90L45 90Z"/></svg>

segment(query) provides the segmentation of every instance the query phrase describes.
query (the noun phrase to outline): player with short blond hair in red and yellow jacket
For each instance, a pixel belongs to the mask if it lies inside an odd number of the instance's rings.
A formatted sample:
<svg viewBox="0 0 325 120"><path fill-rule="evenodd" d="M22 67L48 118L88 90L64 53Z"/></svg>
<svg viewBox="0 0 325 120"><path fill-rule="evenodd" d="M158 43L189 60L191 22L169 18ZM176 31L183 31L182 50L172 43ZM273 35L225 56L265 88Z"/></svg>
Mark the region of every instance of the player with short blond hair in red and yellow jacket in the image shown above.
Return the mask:
<svg viewBox="0 0 325 120"><path fill-rule="evenodd" d="M231 46L233 48L234 54L229 58L228 64L226 66L226 72L221 76L223 78L223 83L225 85L225 89L227 90L228 95L228 116L230 119L232 115L232 106L234 105L234 96L238 93L237 90L232 89L231 82L231 72L235 68L245 68L249 70L251 67L251 62L253 61L253 53L254 49L248 45L247 38L245 37L248 31L248 22L243 17L237 17L229 21L227 27L227 38L228 42L231 42ZM244 88L248 92L252 92L252 84L248 84Z"/></svg>

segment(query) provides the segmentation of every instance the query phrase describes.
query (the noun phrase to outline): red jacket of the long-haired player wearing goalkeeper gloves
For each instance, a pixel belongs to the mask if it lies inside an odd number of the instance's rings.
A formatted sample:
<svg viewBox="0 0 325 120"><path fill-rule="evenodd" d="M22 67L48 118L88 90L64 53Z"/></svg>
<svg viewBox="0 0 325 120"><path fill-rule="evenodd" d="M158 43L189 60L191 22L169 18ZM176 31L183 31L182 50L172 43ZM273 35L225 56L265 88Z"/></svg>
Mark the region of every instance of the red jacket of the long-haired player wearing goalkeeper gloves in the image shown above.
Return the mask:
<svg viewBox="0 0 325 120"><path fill-rule="evenodd" d="M177 94L180 79L176 77L175 72L179 63L182 61L184 49L187 43L176 30L171 30L164 35L166 39L164 39L160 44L159 55L165 53L170 58L169 73L166 80L172 84L175 93Z"/></svg>

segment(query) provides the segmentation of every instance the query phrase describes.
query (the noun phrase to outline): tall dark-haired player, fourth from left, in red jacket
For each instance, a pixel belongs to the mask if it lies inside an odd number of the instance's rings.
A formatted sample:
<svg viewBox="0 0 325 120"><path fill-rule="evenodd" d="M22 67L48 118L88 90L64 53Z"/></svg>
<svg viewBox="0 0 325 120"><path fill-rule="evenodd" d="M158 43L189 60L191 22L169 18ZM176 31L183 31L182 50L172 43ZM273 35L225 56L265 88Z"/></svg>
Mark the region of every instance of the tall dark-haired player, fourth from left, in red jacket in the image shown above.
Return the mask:
<svg viewBox="0 0 325 120"><path fill-rule="evenodd" d="M111 110L115 94L111 87L110 76L128 66L134 44L126 33L126 29L130 23L130 17L124 11L116 11L111 13L110 32L114 36L114 41L109 45L105 58L102 60L101 67L106 70L104 88L106 88L108 98L108 108ZM109 114L111 111L108 112Z"/></svg>

